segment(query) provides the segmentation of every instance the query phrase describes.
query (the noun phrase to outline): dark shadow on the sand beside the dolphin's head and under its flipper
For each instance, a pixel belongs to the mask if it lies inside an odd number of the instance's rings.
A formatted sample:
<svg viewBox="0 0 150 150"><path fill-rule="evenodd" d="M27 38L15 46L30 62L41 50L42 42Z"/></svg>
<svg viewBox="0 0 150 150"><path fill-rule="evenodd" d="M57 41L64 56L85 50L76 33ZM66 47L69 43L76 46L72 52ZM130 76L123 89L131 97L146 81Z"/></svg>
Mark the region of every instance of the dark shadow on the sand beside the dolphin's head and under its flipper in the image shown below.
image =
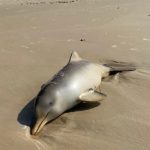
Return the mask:
<svg viewBox="0 0 150 150"><path fill-rule="evenodd" d="M20 124L29 126L30 128L35 123L35 114L34 114L34 100L33 98L24 108L19 112L17 121ZM68 110L69 112L76 112L76 111L84 111L88 109L95 108L100 105L100 102L81 102L77 106L73 107L72 109Z"/></svg>

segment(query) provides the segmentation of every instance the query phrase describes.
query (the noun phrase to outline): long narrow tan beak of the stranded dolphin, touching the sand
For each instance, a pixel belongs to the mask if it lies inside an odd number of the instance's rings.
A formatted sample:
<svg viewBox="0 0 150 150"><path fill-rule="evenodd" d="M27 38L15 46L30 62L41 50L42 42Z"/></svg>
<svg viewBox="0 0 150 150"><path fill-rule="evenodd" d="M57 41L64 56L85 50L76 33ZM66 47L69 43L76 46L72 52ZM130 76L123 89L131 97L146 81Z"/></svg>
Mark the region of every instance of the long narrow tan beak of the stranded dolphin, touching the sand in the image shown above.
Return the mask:
<svg viewBox="0 0 150 150"><path fill-rule="evenodd" d="M31 128L31 131L30 131L31 135L37 135L41 131L44 125L48 122L47 116L48 116L48 113L46 114L45 117L42 117L36 120L36 123Z"/></svg>

